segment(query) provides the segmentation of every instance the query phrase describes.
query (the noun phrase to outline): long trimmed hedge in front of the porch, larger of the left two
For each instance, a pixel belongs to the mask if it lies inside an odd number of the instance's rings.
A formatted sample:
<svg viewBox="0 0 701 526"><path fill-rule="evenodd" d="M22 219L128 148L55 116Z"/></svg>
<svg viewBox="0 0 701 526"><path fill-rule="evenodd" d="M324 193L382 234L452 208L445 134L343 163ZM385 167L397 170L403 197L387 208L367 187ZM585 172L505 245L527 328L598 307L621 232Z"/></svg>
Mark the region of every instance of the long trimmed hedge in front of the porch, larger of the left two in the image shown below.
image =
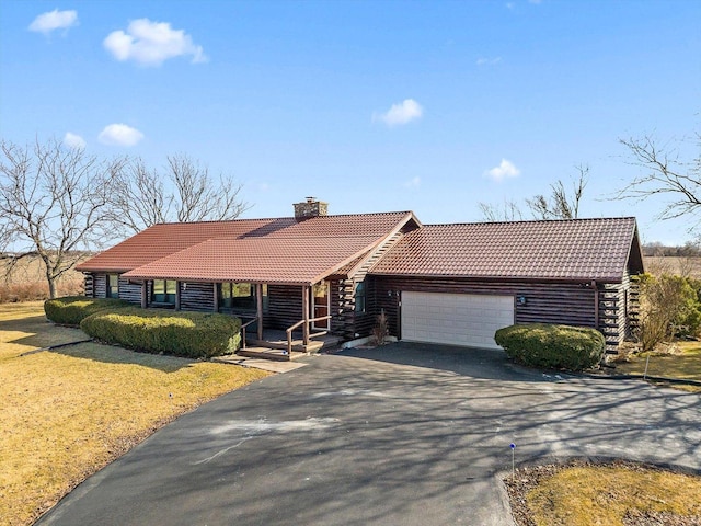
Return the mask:
<svg viewBox="0 0 701 526"><path fill-rule="evenodd" d="M232 353L241 342L241 320L217 313L118 309L89 316L80 328L106 343L188 358Z"/></svg>

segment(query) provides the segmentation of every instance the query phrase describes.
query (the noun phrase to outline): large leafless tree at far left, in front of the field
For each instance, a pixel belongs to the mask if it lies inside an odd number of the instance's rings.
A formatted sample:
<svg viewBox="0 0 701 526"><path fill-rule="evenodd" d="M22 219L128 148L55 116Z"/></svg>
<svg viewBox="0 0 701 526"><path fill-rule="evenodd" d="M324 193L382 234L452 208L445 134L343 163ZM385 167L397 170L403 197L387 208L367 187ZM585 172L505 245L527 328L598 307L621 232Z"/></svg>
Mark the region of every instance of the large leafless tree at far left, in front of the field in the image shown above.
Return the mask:
<svg viewBox="0 0 701 526"><path fill-rule="evenodd" d="M125 160L100 161L56 139L32 148L2 140L0 150L2 241L15 249L15 263L28 255L42 260L55 298L56 281L76 266L77 252L111 239L111 182Z"/></svg>

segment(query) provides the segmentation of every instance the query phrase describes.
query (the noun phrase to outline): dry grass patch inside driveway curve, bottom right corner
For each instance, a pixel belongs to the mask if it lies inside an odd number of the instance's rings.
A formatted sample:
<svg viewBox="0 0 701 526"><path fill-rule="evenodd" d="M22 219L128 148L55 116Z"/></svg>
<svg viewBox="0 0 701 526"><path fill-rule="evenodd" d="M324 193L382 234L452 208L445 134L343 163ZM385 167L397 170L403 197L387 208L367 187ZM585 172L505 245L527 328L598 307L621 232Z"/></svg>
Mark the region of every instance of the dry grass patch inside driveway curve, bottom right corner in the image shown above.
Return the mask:
<svg viewBox="0 0 701 526"><path fill-rule="evenodd" d="M524 468L505 483L519 526L701 524L701 478L652 466Z"/></svg>

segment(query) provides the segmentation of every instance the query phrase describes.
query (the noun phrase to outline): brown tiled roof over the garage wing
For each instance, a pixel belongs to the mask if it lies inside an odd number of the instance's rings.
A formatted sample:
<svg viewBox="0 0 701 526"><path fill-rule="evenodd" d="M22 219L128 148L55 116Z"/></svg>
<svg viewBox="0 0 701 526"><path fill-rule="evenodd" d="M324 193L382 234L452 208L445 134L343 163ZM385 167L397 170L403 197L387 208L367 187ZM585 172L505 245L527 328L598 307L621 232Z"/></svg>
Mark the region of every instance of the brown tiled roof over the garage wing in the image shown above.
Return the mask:
<svg viewBox="0 0 701 526"><path fill-rule="evenodd" d="M632 217L425 225L370 273L619 282L635 235Z"/></svg>

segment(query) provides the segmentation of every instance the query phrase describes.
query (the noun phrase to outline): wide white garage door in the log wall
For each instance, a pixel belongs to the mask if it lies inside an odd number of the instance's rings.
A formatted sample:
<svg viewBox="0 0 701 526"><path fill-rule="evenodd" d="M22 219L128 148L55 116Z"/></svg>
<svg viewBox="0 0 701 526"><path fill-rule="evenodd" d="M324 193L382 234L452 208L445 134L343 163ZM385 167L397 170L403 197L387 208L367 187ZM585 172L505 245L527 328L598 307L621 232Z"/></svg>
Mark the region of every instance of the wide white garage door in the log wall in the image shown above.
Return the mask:
<svg viewBox="0 0 701 526"><path fill-rule="evenodd" d="M501 348L494 332L514 323L514 297L402 293L402 340Z"/></svg>

